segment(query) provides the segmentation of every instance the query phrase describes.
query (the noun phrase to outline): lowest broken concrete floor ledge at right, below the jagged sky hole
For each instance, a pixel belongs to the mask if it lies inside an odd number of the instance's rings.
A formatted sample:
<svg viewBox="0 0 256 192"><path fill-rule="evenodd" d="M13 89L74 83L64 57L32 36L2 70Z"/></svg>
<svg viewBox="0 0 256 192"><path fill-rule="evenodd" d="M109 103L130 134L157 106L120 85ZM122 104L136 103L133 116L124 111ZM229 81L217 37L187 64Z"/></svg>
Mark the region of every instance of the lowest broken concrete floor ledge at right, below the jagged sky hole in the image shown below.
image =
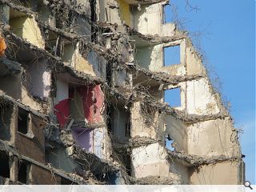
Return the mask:
<svg viewBox="0 0 256 192"><path fill-rule="evenodd" d="M186 166L203 166L203 165L213 165L219 162L239 162L242 161L241 157L229 157L226 155L216 155L210 158L201 157L194 154L185 154L178 152L168 151L169 160L173 159L181 160Z"/></svg>

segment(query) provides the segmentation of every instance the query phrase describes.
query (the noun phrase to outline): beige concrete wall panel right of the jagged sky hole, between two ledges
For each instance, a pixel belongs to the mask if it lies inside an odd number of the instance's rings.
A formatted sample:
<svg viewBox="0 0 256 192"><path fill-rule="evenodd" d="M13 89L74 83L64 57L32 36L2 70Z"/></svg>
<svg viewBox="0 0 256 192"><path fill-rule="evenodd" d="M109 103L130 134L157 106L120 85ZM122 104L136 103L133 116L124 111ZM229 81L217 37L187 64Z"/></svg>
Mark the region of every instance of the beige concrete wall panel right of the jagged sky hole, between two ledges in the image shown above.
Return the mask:
<svg viewBox="0 0 256 192"><path fill-rule="evenodd" d="M188 127L188 153L240 156L236 131L230 118L198 122Z"/></svg>

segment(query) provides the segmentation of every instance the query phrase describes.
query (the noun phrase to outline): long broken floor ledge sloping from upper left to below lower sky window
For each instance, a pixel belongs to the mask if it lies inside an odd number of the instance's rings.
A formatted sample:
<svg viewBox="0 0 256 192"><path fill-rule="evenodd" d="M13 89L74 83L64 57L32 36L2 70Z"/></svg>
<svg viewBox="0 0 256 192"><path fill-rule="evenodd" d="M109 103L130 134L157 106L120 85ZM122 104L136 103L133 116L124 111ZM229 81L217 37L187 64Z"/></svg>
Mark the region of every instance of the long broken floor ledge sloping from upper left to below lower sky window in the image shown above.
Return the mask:
<svg viewBox="0 0 256 192"><path fill-rule="evenodd" d="M26 42L24 39L18 38L18 36L16 36L13 33L10 33L9 31L5 31L4 34L6 36L9 35L9 37L7 37L9 40L14 39L14 42L17 42L17 43L21 44L22 46L28 46L31 50L34 50L35 52L41 54L42 57L50 58L50 60L52 60L52 62L54 62L57 65L57 67L54 65L51 66L53 68L52 70L62 70L61 71L62 73L68 72L68 73L70 73L70 75L72 77L81 79L82 82L85 82L85 84L94 84L94 83L102 84L102 88L104 90L108 91L112 95L122 98L123 100L128 100L128 101L130 100L130 102L131 102L131 98L134 98L132 93L130 93L130 96L128 96L128 94L121 94L120 92L118 92L118 90L115 90L114 88L110 88L107 85L107 83L102 80L102 78L95 78L95 77L92 77L90 74L86 74L84 72L74 70L74 68L71 66L66 66L63 62L60 61L60 59L55 58L53 55L48 53L46 50L42 50L42 49L38 48L37 46L31 45L30 42ZM61 69L58 69L58 68L61 68ZM58 71L58 73L60 73L60 71ZM147 71L147 73L150 73L150 72ZM168 106L165 103L157 102L154 100L154 98L150 98L146 94L143 94L143 93L141 93L140 96L137 97L137 100L138 101L142 100L142 102L144 102L150 106L154 106L154 107L156 107L156 109L158 109L162 112L165 112L166 114L173 114L174 117L182 119L184 122L187 122L187 123L204 122L204 121L213 120L216 118L226 118L228 116L227 114L222 114L222 113L209 114L209 115L186 114L186 112L180 111L180 110L175 110L174 108Z"/></svg>

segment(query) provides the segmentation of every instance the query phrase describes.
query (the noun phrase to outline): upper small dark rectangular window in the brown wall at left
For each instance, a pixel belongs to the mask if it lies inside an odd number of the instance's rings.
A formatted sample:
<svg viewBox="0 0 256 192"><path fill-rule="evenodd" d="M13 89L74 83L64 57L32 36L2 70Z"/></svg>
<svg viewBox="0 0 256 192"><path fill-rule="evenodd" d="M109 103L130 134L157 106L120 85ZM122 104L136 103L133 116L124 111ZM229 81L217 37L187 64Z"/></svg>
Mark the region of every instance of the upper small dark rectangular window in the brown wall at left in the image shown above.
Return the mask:
<svg viewBox="0 0 256 192"><path fill-rule="evenodd" d="M18 107L18 132L27 134L29 130L29 112Z"/></svg>

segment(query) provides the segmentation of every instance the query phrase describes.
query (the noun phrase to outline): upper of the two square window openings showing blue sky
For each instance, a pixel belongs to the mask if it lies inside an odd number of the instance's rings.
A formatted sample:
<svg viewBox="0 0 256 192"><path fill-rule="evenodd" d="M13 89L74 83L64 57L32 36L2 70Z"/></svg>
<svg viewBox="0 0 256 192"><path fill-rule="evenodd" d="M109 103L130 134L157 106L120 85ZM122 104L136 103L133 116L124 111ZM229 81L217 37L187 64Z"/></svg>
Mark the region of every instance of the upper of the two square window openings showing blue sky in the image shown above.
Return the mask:
<svg viewBox="0 0 256 192"><path fill-rule="evenodd" d="M163 66L172 66L181 63L180 46L166 46L163 48Z"/></svg>

